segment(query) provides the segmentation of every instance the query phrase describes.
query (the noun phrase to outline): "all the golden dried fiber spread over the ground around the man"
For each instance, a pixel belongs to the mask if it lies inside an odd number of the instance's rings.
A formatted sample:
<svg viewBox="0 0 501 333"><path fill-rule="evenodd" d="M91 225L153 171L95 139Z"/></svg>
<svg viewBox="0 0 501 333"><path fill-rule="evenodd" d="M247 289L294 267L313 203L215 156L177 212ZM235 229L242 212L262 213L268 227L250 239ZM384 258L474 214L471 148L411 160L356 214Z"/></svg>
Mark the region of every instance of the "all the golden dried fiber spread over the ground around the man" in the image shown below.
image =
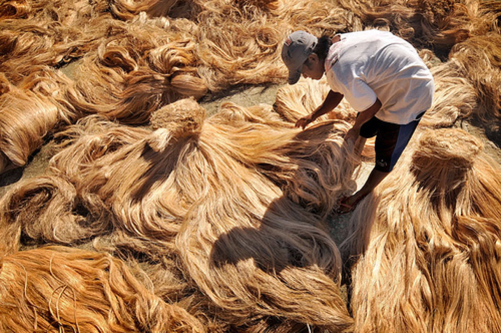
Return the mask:
<svg viewBox="0 0 501 333"><path fill-rule="evenodd" d="M55 145L0 199L0 330L501 332L501 167L450 128L498 130L500 15L474 0L0 2L0 173ZM327 222L361 164L350 106L303 131L324 80L273 106L197 100L285 83L294 30L374 28L418 49L436 91L338 249Z"/></svg>

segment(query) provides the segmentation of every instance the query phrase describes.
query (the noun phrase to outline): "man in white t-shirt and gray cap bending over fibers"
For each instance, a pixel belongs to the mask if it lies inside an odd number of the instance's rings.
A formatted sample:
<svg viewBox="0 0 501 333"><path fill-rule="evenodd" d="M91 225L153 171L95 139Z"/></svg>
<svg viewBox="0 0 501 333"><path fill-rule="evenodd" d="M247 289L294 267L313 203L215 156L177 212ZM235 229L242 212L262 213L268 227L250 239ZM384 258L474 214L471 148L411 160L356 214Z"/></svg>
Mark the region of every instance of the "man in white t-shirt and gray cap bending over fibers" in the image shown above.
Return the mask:
<svg viewBox="0 0 501 333"><path fill-rule="evenodd" d="M351 212L391 172L431 106L433 76L412 45L378 30L332 40L296 31L284 42L282 59L289 69L289 84L301 75L319 80L325 74L331 88L324 102L296 127L304 129L346 98L359 113L345 141L354 142L360 152L366 139L376 136L376 163L367 182L339 201L338 213Z"/></svg>

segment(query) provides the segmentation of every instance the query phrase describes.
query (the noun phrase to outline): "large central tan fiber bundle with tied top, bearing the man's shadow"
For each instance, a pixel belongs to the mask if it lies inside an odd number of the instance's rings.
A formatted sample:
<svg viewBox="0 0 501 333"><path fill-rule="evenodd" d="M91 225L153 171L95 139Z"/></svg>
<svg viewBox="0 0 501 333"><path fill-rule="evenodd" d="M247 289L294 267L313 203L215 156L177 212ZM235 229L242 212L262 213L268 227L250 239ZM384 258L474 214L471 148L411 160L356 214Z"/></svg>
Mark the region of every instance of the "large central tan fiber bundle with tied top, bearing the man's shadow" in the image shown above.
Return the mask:
<svg viewBox="0 0 501 333"><path fill-rule="evenodd" d="M269 106L225 107L231 111L204 120L194 100L180 100L154 113L156 129L142 134L83 119L61 134L69 141L52 171L76 188L80 213L92 222L89 233L99 235L92 229L99 218L113 226L101 225L101 232L121 246L152 259L179 254L217 318L238 327L276 317L349 330L340 257L324 230L330 207L353 187L347 170L356 161L341 158L349 151L342 146L347 123L327 121L303 132ZM334 160L345 167L332 168ZM248 236L256 238L251 248L243 242L247 232L255 234ZM223 257L214 258L220 249ZM213 264L230 253L237 256Z"/></svg>

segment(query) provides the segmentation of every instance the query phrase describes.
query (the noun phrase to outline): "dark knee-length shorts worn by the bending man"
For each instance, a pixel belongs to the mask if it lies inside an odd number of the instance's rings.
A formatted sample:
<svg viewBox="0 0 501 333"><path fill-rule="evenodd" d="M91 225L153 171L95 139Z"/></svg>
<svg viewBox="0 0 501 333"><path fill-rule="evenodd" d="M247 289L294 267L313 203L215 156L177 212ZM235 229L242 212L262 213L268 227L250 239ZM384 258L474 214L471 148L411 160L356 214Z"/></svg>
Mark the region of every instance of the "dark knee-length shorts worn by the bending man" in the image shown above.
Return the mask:
<svg viewBox="0 0 501 333"><path fill-rule="evenodd" d="M375 116L362 125L360 136L369 138L376 136L376 165L374 169L381 172L390 172L409 143L412 134L419 124L424 112L416 120L406 125L393 124L379 120Z"/></svg>

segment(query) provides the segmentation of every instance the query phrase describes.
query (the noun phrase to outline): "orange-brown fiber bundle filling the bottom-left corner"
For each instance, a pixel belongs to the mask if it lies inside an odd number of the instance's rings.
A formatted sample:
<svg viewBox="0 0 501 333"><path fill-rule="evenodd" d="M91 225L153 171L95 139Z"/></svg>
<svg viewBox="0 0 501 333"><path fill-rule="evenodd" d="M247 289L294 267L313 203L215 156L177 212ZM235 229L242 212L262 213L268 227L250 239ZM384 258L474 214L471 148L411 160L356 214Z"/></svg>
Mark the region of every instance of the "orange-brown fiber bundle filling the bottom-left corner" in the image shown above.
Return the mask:
<svg viewBox="0 0 501 333"><path fill-rule="evenodd" d="M47 247L2 258L0 327L6 331L203 332L110 255Z"/></svg>

